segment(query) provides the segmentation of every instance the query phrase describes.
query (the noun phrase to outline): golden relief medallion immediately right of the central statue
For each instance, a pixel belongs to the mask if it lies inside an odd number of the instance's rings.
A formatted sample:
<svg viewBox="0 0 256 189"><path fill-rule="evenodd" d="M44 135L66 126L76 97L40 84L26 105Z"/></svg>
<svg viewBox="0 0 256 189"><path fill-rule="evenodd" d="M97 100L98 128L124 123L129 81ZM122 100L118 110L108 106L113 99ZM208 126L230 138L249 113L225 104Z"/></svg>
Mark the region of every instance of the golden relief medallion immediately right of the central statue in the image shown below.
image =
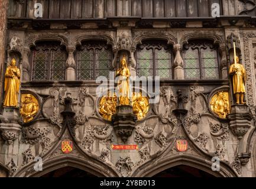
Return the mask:
<svg viewBox="0 0 256 189"><path fill-rule="evenodd" d="M137 115L138 120L145 118L149 108L147 97L140 93L133 93L132 96L132 112Z"/></svg>

